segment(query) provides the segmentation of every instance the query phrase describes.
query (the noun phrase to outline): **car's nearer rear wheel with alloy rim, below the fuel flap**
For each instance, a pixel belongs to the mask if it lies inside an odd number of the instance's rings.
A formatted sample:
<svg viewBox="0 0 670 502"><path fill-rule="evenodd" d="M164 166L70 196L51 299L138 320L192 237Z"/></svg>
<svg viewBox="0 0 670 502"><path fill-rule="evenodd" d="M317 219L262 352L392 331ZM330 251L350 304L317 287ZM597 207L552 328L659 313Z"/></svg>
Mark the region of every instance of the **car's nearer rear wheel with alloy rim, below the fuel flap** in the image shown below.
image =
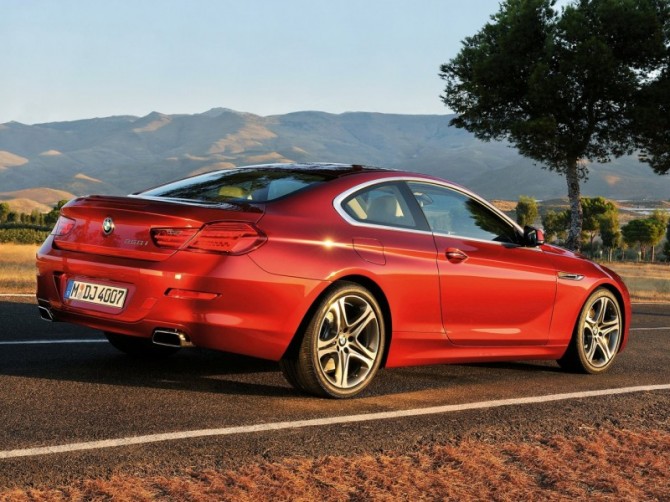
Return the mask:
<svg viewBox="0 0 670 502"><path fill-rule="evenodd" d="M318 303L294 357L281 361L296 389L321 397L349 398L374 378L385 348L379 303L362 286L343 282Z"/></svg>

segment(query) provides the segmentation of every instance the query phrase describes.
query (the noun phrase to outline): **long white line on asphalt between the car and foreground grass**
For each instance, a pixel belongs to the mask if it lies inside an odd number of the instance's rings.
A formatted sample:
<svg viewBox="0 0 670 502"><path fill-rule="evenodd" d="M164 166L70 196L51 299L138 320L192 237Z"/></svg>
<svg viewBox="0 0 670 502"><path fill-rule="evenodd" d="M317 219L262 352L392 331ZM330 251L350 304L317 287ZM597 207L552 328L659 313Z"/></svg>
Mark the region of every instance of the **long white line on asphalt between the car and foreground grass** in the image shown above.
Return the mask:
<svg viewBox="0 0 670 502"><path fill-rule="evenodd" d="M548 396L520 397L514 399L501 399L497 401L482 401L476 403L432 406L429 408L416 408L411 410L383 411L378 413L366 413L361 415L348 415L348 416L345 415L340 417L296 420L292 422L270 422L265 424L240 425L237 427L224 427L221 429L200 429L193 431L168 432L164 434L149 434L146 436L105 439L101 441L88 441L83 443L71 443L71 444L54 445L54 446L43 446L37 448L6 450L6 451L0 451L0 459L17 458L17 457L34 457L39 455L50 455L54 453L98 450L103 448L116 448L119 446L158 443L162 441L175 441L179 439L201 438L211 436L232 436L236 434L252 434L255 432L299 429L302 427L320 427L328 425L369 422L372 420L392 420L398 418L418 417L424 415L455 413L467 410L499 408L502 406L519 406L527 404L550 403L555 401L565 401L568 399L584 399L590 397L612 396L620 394L632 394L636 392L653 392L663 390L670 390L670 384L645 385L638 387L622 387L617 389L590 390L584 392L570 392L567 394L551 394Z"/></svg>

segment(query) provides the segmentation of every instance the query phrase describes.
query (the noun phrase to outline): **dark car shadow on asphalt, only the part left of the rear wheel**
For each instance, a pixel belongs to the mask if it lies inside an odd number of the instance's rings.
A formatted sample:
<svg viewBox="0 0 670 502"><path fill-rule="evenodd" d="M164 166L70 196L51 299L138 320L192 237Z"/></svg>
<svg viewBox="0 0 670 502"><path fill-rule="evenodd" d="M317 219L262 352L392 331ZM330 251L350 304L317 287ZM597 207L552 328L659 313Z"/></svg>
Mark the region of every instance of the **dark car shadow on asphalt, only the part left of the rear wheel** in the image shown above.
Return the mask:
<svg viewBox="0 0 670 502"><path fill-rule="evenodd" d="M112 347L100 331L41 320L32 303L0 302L0 322L0 375L219 394L297 395L272 361L200 348L162 359L131 357ZM76 340L82 343L72 343ZM86 343L90 340L100 343Z"/></svg>

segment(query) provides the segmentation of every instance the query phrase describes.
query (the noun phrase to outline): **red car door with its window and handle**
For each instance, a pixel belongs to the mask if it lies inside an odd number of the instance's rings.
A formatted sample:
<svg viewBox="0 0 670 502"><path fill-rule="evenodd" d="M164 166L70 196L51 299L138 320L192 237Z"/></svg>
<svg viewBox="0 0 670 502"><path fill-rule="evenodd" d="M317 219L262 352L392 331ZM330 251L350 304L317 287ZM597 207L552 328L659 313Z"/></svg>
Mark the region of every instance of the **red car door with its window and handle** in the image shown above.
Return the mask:
<svg viewBox="0 0 670 502"><path fill-rule="evenodd" d="M458 345L540 345L549 338L556 270L541 248L469 194L410 183L433 231L442 322Z"/></svg>

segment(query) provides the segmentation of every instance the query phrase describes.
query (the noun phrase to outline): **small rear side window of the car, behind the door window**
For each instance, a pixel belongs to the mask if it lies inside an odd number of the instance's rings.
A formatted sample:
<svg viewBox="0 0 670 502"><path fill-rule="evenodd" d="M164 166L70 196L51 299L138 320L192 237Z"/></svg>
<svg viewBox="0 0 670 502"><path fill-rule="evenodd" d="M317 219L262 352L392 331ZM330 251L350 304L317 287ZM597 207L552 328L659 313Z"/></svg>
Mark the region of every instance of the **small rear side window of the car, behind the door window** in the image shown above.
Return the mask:
<svg viewBox="0 0 670 502"><path fill-rule="evenodd" d="M348 197L342 208L354 220L390 227L415 228L416 221L397 185L375 185Z"/></svg>

